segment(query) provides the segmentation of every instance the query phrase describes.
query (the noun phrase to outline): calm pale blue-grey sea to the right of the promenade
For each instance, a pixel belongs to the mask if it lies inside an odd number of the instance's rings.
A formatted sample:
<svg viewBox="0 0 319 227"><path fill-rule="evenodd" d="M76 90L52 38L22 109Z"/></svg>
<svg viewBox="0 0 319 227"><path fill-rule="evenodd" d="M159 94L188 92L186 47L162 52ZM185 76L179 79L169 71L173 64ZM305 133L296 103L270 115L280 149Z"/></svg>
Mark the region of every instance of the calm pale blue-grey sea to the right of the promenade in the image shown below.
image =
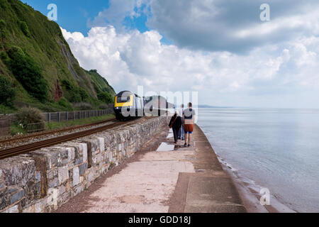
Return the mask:
<svg viewBox="0 0 319 227"><path fill-rule="evenodd" d="M198 109L218 158L297 212L319 212L319 109Z"/></svg>

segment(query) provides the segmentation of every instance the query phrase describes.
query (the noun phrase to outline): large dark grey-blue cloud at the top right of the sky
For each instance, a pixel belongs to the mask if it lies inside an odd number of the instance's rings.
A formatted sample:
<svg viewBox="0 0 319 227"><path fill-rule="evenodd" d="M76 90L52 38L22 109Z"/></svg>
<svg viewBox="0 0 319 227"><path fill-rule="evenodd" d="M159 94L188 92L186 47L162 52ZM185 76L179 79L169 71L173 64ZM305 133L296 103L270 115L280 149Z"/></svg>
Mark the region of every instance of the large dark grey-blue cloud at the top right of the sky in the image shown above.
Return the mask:
<svg viewBox="0 0 319 227"><path fill-rule="evenodd" d="M249 52L272 43L319 35L318 0L269 0L270 18L262 22L264 0L154 0L148 26L181 48Z"/></svg>

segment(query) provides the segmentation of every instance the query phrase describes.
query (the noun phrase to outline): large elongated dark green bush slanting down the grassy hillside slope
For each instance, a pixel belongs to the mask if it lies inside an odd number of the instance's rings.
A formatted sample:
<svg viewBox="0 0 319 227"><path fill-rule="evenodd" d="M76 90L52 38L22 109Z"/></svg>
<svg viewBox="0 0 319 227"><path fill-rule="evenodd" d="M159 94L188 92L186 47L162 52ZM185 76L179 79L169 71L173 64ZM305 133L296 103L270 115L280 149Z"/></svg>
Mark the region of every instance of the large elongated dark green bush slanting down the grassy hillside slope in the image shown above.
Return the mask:
<svg viewBox="0 0 319 227"><path fill-rule="evenodd" d="M9 57L11 71L23 88L36 99L46 101L48 99L47 83L34 60L19 47L11 48Z"/></svg>

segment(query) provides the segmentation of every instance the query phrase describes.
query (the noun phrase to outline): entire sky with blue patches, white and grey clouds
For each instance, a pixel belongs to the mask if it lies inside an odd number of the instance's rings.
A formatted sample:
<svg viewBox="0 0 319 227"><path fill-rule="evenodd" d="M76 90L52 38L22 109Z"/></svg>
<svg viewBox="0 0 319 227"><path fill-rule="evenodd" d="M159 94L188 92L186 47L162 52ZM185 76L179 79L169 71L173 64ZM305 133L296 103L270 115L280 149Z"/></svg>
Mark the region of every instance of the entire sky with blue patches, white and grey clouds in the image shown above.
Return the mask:
<svg viewBox="0 0 319 227"><path fill-rule="evenodd" d="M319 108L318 0L23 2L45 15L56 4L79 64L116 92L140 85L198 92L212 106Z"/></svg>

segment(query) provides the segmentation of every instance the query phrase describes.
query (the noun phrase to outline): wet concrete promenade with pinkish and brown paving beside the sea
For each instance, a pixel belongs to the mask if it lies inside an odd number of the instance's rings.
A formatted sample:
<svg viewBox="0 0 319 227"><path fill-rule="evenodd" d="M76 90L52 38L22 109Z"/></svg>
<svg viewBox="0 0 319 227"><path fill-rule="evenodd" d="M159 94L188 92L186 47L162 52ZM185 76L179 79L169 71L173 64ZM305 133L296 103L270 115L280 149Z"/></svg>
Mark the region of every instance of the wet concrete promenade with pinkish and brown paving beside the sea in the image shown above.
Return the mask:
<svg viewBox="0 0 319 227"><path fill-rule="evenodd" d="M182 141L173 145L167 134L168 129L56 212L246 212L198 126L191 148Z"/></svg>

